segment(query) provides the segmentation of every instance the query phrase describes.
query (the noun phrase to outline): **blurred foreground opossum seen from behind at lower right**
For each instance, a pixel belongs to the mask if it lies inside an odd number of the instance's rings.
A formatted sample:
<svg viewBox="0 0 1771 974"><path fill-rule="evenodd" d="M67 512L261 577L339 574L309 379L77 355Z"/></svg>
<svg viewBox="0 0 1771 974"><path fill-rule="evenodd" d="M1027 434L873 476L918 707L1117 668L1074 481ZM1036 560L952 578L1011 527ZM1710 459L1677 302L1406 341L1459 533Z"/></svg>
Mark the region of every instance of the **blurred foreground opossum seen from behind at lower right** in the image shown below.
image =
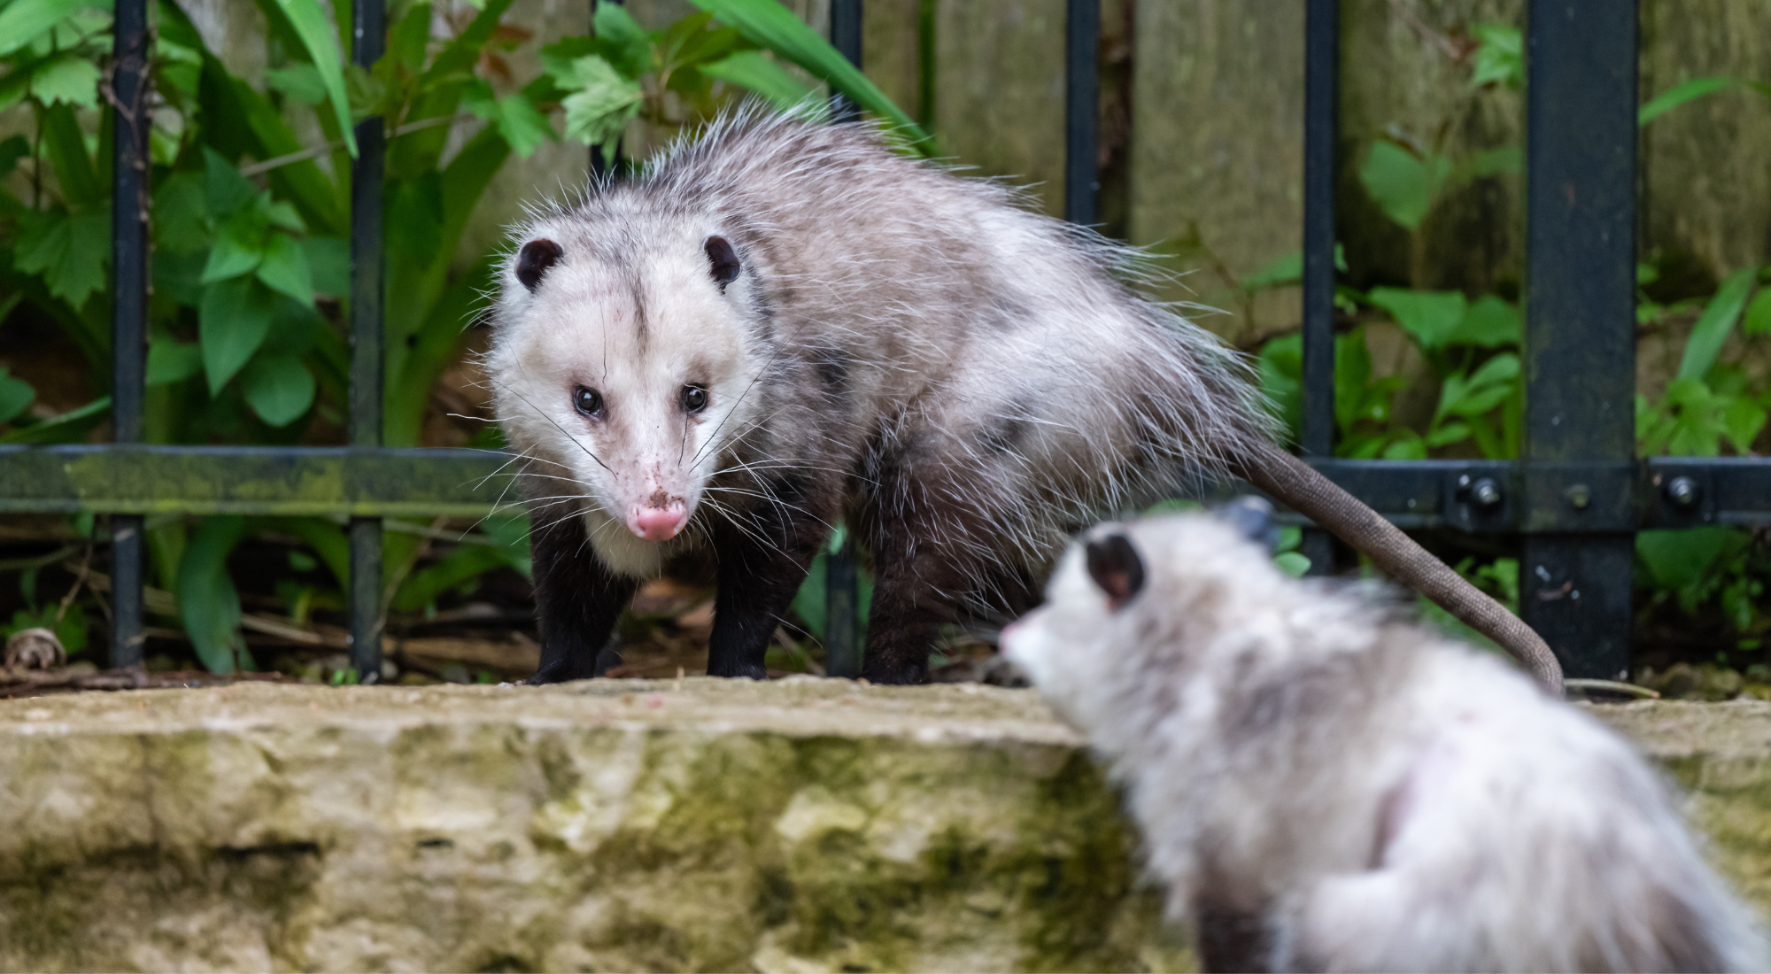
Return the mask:
<svg viewBox="0 0 1771 974"><path fill-rule="evenodd" d="M1617 733L1208 515L1102 524L1004 653L1126 785L1208 970L1764 970Z"/></svg>

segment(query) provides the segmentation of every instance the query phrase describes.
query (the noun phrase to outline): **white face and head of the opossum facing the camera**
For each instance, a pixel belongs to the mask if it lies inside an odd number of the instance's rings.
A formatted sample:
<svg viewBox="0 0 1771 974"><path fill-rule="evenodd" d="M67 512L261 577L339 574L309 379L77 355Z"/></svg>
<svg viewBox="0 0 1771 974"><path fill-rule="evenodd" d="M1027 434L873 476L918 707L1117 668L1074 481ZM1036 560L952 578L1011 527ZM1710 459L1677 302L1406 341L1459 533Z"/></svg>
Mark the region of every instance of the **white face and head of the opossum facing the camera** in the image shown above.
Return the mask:
<svg viewBox="0 0 1771 974"><path fill-rule="evenodd" d="M659 568L726 444L756 425L751 280L717 223L544 220L503 269L498 416L611 568Z"/></svg>

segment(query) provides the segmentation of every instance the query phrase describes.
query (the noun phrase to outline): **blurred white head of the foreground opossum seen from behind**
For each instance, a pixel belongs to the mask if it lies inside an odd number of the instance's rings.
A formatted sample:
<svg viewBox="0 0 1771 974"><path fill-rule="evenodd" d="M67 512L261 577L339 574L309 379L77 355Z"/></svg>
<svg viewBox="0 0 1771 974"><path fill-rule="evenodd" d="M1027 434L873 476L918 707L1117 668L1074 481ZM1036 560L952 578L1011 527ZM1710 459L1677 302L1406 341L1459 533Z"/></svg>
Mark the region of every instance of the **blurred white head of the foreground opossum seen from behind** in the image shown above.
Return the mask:
<svg viewBox="0 0 1771 974"><path fill-rule="evenodd" d="M1291 579L1249 537L1268 522L1233 510L1091 528L1064 553L1045 604L1002 632L1004 655L1059 712L1094 728L1112 723L1128 689L1195 669L1220 636L1257 638Z"/></svg>

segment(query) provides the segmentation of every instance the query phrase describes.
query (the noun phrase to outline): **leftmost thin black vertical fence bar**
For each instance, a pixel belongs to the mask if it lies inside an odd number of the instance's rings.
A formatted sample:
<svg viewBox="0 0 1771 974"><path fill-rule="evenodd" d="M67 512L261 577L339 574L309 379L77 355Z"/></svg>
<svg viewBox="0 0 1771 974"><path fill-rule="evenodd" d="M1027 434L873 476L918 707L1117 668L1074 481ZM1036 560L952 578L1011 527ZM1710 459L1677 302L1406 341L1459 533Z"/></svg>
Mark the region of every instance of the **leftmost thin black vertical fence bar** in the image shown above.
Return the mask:
<svg viewBox="0 0 1771 974"><path fill-rule="evenodd" d="M142 443L147 375L147 0L117 0L112 94L112 423ZM142 517L112 517L112 666L142 664Z"/></svg>

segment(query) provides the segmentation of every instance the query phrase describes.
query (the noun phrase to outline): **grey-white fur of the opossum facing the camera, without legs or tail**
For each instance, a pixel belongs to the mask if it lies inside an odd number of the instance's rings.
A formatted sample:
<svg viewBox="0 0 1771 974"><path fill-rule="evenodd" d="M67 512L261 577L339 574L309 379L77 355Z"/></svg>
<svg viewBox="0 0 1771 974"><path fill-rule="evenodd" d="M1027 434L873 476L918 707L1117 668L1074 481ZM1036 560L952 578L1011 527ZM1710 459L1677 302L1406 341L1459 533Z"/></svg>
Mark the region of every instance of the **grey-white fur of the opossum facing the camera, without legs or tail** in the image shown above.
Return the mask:
<svg viewBox="0 0 1771 974"><path fill-rule="evenodd" d="M712 234L742 260L724 294ZM517 250L538 237L563 257L530 292ZM629 576L708 538L710 517L754 524L783 503L770 483L836 469L871 545L894 544L893 519L932 524L985 590L1006 576L983 565L1040 577L1080 526L1270 432L1236 354L1125 283L1135 251L870 126L740 110L512 244L487 359L498 416L531 498L583 517ZM684 425L666 390L694 368L710 406ZM606 423L572 409L576 384L607 397ZM646 476L689 501L678 538L625 530Z"/></svg>

